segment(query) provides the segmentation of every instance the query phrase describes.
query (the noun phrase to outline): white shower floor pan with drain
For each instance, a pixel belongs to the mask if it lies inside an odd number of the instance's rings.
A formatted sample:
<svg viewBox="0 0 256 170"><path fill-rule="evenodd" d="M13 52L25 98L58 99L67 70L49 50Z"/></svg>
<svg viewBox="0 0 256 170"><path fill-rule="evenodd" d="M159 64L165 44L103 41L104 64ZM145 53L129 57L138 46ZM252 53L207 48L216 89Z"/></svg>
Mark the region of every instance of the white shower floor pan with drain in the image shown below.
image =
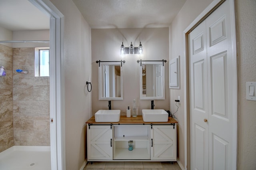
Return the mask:
<svg viewBox="0 0 256 170"><path fill-rule="evenodd" d="M0 170L51 170L50 146L12 146L0 152Z"/></svg>

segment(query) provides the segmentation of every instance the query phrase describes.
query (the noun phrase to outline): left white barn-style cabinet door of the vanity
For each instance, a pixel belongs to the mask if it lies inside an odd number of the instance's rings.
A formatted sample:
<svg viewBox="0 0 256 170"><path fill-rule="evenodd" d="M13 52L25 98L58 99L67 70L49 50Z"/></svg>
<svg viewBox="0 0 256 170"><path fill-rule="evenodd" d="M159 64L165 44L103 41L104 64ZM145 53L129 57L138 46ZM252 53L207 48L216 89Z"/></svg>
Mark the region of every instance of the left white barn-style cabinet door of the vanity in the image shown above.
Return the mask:
<svg viewBox="0 0 256 170"><path fill-rule="evenodd" d="M112 160L112 125L87 125L88 160Z"/></svg>

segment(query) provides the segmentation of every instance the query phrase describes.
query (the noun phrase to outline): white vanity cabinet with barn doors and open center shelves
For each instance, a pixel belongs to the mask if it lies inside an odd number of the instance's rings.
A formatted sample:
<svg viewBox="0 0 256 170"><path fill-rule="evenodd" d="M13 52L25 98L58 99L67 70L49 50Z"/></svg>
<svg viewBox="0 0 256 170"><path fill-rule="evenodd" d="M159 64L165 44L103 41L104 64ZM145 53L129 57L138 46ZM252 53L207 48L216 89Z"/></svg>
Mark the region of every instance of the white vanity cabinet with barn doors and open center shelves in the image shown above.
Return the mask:
<svg viewBox="0 0 256 170"><path fill-rule="evenodd" d="M176 123L89 123L87 148L88 161L176 161Z"/></svg>

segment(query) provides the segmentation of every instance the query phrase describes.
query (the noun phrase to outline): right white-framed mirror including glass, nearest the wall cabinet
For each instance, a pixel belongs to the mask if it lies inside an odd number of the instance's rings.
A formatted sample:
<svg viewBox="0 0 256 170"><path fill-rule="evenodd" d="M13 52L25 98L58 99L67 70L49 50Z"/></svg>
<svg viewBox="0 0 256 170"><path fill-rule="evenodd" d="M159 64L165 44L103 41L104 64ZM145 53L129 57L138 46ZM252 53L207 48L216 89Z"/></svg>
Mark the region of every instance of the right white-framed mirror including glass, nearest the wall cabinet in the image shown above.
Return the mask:
<svg viewBox="0 0 256 170"><path fill-rule="evenodd" d="M162 61L141 61L140 99L165 99L164 65Z"/></svg>

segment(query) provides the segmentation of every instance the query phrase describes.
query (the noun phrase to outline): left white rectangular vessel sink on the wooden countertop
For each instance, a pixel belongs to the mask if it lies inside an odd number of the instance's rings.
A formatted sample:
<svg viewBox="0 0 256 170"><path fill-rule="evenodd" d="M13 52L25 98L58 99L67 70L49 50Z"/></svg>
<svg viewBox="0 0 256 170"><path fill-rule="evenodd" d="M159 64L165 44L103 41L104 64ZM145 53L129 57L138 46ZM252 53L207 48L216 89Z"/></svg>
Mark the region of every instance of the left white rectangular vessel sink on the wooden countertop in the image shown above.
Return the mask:
<svg viewBox="0 0 256 170"><path fill-rule="evenodd" d="M120 110L98 110L94 116L96 122L119 122Z"/></svg>

